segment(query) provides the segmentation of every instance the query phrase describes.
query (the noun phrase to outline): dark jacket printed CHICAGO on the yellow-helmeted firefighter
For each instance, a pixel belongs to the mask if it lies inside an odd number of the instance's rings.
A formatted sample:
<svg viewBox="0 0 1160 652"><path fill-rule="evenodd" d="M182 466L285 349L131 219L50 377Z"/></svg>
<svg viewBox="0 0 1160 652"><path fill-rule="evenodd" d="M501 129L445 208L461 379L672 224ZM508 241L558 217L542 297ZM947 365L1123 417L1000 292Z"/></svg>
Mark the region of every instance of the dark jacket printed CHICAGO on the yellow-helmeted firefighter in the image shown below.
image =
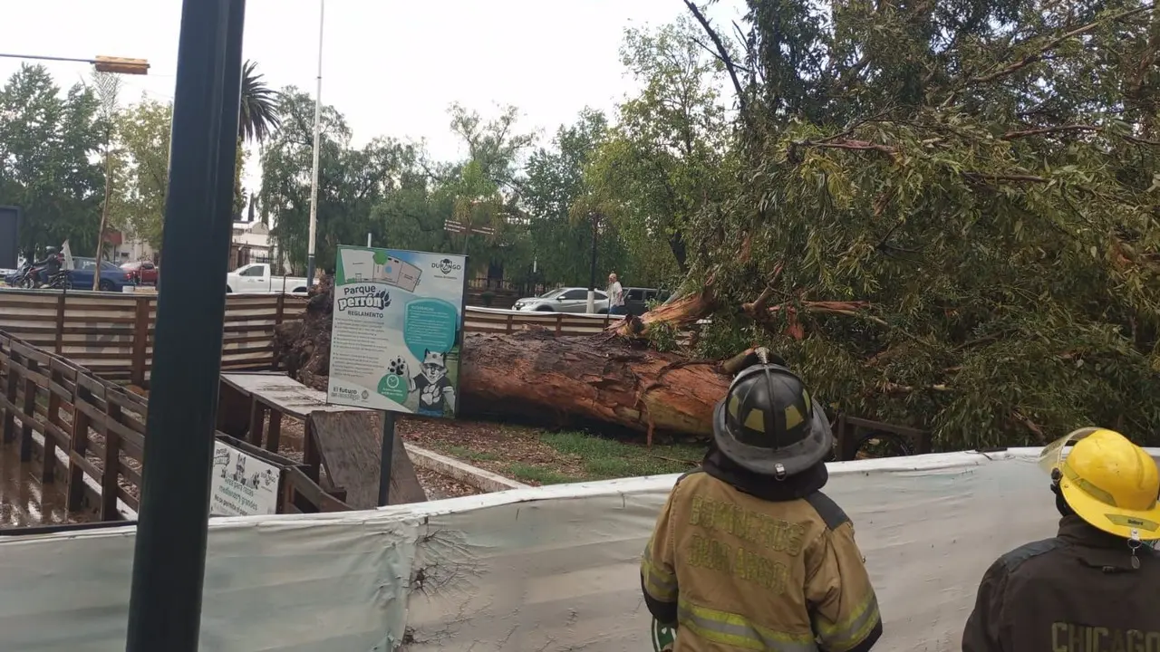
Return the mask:
<svg viewBox="0 0 1160 652"><path fill-rule="evenodd" d="M963 652L1160 652L1160 553L1075 515L983 575ZM1138 566L1138 567L1137 567Z"/></svg>

